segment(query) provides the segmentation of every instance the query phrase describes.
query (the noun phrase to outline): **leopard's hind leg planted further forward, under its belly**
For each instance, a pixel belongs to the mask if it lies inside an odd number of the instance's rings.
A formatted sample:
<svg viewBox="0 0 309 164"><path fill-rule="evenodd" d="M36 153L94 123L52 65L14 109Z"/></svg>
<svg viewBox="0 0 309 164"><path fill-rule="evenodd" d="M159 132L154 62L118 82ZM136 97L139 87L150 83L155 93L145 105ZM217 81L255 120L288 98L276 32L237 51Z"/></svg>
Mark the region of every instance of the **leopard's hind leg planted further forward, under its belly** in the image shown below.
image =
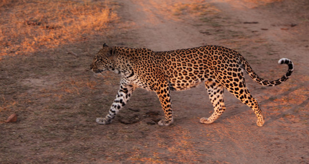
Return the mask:
<svg viewBox="0 0 309 164"><path fill-rule="evenodd" d="M205 86L208 92L210 102L213 105L214 112L209 118L201 118L200 123L209 124L217 120L219 116L221 116L222 113L225 111L225 104L223 101L224 86L221 85L219 82L215 82L211 79L205 82Z"/></svg>

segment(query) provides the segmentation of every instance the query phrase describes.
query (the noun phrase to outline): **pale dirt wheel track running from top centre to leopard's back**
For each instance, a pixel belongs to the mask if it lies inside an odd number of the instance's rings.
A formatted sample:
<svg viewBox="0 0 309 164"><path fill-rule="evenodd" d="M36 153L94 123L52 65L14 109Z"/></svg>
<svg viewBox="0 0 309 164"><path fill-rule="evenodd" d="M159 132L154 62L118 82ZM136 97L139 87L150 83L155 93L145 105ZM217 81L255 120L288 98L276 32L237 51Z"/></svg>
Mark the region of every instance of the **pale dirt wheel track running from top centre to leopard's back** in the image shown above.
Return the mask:
<svg viewBox="0 0 309 164"><path fill-rule="evenodd" d="M170 13L164 13L160 7L168 8L171 4L162 4L159 0L123 1L123 17L134 22L133 31L139 46L154 50L179 49L201 44L205 39L198 29L192 29L185 21L167 18ZM180 35L181 34L181 35ZM184 39L185 38L185 39Z"/></svg>

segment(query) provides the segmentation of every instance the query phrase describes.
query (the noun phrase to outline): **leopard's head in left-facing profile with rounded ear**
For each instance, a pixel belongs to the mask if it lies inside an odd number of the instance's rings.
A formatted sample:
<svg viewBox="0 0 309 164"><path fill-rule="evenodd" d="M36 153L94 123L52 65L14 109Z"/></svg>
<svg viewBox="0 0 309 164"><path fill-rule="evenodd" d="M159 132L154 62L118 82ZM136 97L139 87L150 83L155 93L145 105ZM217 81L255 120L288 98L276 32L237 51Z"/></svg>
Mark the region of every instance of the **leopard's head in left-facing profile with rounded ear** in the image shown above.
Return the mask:
<svg viewBox="0 0 309 164"><path fill-rule="evenodd" d="M112 67L112 58L114 55L113 47L108 47L105 43L103 48L95 55L93 62L90 64L90 69L94 73L101 73Z"/></svg>

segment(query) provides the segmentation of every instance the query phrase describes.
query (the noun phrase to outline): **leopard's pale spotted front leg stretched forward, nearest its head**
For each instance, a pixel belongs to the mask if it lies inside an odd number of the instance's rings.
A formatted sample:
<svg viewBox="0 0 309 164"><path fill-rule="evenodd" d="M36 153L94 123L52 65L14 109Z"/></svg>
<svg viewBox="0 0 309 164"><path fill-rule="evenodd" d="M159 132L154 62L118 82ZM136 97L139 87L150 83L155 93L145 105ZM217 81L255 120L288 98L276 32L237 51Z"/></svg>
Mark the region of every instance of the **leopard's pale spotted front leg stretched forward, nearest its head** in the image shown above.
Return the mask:
<svg viewBox="0 0 309 164"><path fill-rule="evenodd" d="M129 101L129 98L134 90L135 87L133 87L132 85L121 83L119 91L116 95L116 99L110 106L108 114L105 116L105 118L97 118L96 122L99 124L111 123L111 121L115 118L119 110L122 109L122 107L124 107L126 103Z"/></svg>

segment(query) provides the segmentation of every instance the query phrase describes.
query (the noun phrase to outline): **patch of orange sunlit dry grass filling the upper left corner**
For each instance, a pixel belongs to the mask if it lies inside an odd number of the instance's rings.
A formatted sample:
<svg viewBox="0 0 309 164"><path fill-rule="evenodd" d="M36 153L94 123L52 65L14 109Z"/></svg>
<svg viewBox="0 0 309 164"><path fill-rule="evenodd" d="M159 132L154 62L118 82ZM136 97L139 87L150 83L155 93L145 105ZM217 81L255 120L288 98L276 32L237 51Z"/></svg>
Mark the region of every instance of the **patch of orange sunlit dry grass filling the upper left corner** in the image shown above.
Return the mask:
<svg viewBox="0 0 309 164"><path fill-rule="evenodd" d="M112 4L99 1L3 0L0 56L32 53L87 39L118 19Z"/></svg>

